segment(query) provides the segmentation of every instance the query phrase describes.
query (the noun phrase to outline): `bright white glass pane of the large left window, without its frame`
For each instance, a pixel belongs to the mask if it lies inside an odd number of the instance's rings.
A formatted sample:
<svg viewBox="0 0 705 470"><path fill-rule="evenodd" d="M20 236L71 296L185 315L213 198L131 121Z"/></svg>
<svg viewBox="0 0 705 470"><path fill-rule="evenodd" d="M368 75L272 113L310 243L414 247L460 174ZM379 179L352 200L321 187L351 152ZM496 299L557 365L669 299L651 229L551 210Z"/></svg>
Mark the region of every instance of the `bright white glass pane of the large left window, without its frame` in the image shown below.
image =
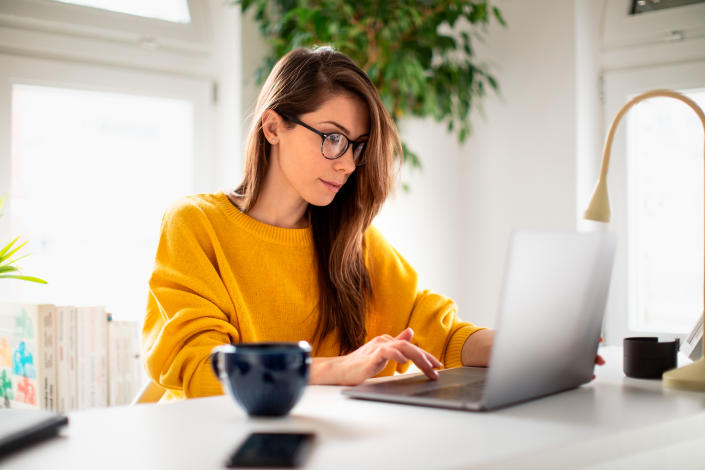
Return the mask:
<svg viewBox="0 0 705 470"><path fill-rule="evenodd" d="M11 300L105 305L141 321L165 209L193 190L189 101L12 87L10 233L29 240Z"/></svg>

